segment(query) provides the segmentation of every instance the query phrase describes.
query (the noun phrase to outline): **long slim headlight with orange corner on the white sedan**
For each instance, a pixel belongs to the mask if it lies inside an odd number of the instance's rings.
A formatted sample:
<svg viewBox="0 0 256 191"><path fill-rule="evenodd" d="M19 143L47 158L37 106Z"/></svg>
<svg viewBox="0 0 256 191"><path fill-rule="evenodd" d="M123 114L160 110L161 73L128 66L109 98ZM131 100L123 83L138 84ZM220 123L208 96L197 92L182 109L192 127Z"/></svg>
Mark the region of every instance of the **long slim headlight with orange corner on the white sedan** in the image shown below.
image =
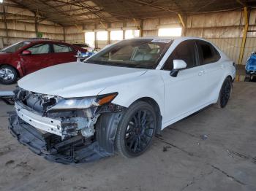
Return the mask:
<svg viewBox="0 0 256 191"><path fill-rule="evenodd" d="M105 95L98 95L86 98L67 98L61 99L55 106L48 109L47 112L57 112L59 110L78 110L78 109L88 109L93 106L102 106L104 104L110 103L116 98L118 93L110 93Z"/></svg>

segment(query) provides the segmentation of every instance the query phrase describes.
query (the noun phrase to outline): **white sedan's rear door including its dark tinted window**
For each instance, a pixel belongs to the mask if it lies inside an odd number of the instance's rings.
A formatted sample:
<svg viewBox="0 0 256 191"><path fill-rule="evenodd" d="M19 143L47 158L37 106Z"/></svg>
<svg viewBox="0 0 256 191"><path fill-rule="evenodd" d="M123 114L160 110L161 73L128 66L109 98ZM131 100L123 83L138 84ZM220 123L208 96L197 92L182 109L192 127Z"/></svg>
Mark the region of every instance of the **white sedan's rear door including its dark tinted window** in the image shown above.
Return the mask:
<svg viewBox="0 0 256 191"><path fill-rule="evenodd" d="M209 42L195 40L200 58L200 66L204 66L207 80L208 101L213 101L219 95L219 86L225 74L225 66L220 61L221 56Z"/></svg>

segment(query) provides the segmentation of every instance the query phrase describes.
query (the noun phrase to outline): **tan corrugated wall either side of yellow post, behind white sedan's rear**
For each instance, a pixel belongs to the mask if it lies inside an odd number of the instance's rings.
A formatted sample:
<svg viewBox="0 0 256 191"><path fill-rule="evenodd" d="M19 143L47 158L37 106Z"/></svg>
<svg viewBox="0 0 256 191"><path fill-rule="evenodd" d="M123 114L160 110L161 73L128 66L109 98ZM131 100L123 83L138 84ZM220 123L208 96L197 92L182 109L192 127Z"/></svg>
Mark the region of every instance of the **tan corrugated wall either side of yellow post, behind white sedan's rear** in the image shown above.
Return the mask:
<svg viewBox="0 0 256 191"><path fill-rule="evenodd" d="M238 64L244 33L243 10L217 12L187 17L187 36L199 36L216 44L236 64ZM256 9L249 12L249 32L242 64L246 63L252 51L256 50Z"/></svg>

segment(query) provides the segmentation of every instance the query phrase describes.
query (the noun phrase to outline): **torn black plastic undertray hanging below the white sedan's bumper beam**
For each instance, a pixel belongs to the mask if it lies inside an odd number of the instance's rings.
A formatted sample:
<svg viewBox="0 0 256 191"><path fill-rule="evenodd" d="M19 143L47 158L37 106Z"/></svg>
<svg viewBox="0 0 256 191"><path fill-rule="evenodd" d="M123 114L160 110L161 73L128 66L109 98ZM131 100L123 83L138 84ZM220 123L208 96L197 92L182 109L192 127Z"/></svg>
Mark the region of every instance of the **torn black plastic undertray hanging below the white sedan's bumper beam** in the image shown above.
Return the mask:
<svg viewBox="0 0 256 191"><path fill-rule="evenodd" d="M97 141L85 142L83 136L59 141L52 133L42 133L28 123L20 120L16 112L10 112L10 132L18 141L32 152L57 163L86 163L108 157L113 153L99 147ZM55 136L55 137L53 137ZM53 139L54 138L54 139ZM56 141L56 143L53 143Z"/></svg>

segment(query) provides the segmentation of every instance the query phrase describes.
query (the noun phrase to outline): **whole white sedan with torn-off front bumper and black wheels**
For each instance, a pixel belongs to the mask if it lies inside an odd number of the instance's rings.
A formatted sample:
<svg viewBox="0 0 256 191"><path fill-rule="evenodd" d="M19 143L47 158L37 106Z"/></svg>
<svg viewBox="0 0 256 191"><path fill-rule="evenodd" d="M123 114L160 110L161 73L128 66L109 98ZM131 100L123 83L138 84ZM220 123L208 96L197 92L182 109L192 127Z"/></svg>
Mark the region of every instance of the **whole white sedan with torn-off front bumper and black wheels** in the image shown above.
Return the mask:
<svg viewBox="0 0 256 191"><path fill-rule="evenodd" d="M236 69L203 39L138 38L83 62L18 81L10 130L48 160L81 163L141 155L157 133L210 104L225 107ZM12 103L10 103L12 104Z"/></svg>

